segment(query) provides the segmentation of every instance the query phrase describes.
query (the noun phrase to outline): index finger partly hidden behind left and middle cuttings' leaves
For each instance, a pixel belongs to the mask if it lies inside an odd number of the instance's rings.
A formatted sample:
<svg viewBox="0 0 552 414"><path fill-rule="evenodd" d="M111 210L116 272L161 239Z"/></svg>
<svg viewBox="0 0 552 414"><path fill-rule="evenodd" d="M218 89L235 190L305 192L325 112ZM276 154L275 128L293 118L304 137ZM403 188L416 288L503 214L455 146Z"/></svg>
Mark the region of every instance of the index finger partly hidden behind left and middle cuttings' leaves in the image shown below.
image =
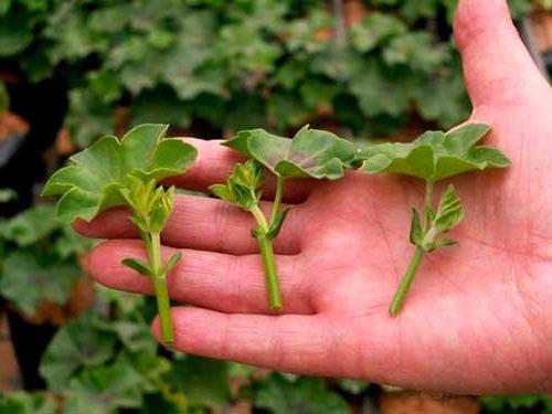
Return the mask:
<svg viewBox="0 0 552 414"><path fill-rule="evenodd" d="M209 185L223 183L232 173L236 162L245 161L245 157L231 148L223 147L223 140L203 140L198 138L184 138L184 141L198 149L198 159L190 166L188 171L178 177L168 179L168 184L182 187L188 190L206 191ZM264 195L273 195L275 189L274 177L269 174L265 184ZM294 180L286 183L284 200L298 202L305 200L316 187L314 180Z"/></svg>

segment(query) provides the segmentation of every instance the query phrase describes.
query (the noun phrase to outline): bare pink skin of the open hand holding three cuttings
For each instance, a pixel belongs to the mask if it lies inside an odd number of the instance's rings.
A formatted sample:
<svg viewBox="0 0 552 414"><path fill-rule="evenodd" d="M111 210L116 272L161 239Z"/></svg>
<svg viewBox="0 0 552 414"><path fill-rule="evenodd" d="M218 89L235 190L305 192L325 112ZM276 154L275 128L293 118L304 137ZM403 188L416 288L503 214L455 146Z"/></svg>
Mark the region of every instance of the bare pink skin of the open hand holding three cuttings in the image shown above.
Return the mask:
<svg viewBox="0 0 552 414"><path fill-rule="evenodd" d="M296 373L348 376L452 393L552 391L552 92L510 22L503 0L460 0L455 24L474 103L492 125L487 144L509 170L454 180L467 212L456 247L424 261L399 318L388 305L413 253L412 205L423 183L349 173L291 189L297 204L276 242L285 308L267 309L254 223L212 199L179 197L164 253L182 250L170 275L177 350ZM236 156L215 141L177 181L222 182ZM440 191L443 187L438 187ZM267 204L269 208L269 204ZM77 223L110 238L88 258L102 284L151 293L123 267L144 256L124 210ZM159 327L153 322L159 339Z"/></svg>

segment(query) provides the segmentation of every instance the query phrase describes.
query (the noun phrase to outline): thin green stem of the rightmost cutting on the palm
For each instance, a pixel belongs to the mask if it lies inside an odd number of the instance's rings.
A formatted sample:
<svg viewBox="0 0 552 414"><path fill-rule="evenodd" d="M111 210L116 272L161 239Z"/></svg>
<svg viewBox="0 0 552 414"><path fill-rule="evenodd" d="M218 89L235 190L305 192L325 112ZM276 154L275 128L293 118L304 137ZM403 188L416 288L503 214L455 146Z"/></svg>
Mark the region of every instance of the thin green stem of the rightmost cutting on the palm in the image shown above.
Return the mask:
<svg viewBox="0 0 552 414"><path fill-rule="evenodd" d="M432 181L426 181L424 197L424 221L422 223L422 240L425 240L431 226L429 212L433 211L433 187L434 185ZM408 265L408 268L406 269L401 284L396 289L391 305L389 306L389 312L393 318L396 317L401 311L406 294L408 293L408 289L414 282L414 277L416 276L424 255L425 251L422 247L416 247L411 264Z"/></svg>

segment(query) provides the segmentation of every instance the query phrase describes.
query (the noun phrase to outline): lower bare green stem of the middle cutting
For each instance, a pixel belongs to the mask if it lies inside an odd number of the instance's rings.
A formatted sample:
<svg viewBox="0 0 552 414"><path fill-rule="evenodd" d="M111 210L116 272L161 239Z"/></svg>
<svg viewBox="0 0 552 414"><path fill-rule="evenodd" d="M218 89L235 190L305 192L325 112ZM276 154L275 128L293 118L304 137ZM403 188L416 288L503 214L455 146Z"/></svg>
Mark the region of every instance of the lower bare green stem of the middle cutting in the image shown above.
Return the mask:
<svg viewBox="0 0 552 414"><path fill-rule="evenodd" d="M268 223L266 222L266 217L258 205L255 205L250 211L258 225L257 238L265 269L268 302L270 304L270 308L273 310L280 310L283 307L282 294L279 289L278 272L276 269L276 259L274 257L273 242L266 236L266 233L268 232Z"/></svg>

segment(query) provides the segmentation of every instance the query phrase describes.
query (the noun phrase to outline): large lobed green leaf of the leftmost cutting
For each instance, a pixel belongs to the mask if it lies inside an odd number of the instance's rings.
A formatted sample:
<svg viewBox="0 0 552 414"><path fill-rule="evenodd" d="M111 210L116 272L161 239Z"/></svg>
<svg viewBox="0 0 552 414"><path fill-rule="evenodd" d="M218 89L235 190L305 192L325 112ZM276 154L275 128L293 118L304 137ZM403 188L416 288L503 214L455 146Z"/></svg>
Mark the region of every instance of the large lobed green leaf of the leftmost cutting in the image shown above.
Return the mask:
<svg viewBox="0 0 552 414"><path fill-rule="evenodd" d="M159 181L182 173L197 151L180 139L163 139L167 129L167 125L140 125L123 141L107 136L71 157L70 166L55 172L44 188L45 195L63 195L57 216L65 222L89 221L126 203L120 190L130 177Z"/></svg>

